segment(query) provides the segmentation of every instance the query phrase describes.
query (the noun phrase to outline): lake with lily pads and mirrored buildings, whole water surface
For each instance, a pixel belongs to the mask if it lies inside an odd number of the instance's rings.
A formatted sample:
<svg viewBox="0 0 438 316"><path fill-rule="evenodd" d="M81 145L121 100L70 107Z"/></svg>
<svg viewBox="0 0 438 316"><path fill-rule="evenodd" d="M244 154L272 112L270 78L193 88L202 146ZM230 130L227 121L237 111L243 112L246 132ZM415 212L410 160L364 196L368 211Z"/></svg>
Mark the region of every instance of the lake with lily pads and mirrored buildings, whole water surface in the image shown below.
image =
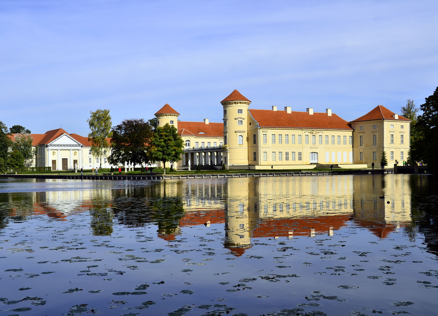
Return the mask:
<svg viewBox="0 0 438 316"><path fill-rule="evenodd" d="M433 315L427 175L0 179L1 315Z"/></svg>

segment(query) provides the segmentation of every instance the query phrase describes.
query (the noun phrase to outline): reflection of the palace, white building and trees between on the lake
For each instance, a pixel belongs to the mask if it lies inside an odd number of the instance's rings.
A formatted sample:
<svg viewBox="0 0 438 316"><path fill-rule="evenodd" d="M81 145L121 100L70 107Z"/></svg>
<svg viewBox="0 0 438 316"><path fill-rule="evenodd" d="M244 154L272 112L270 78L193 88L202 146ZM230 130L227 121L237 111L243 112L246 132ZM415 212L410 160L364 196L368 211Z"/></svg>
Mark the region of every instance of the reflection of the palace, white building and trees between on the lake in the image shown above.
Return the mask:
<svg viewBox="0 0 438 316"><path fill-rule="evenodd" d="M175 180L2 198L20 201L10 217L46 214L65 220L72 211L89 211L95 235L110 235L113 221L128 227L156 224L159 237L168 241L185 226L223 224L224 246L242 254L251 238L333 235L347 221L385 238L411 221L410 194L409 176L364 175Z"/></svg>

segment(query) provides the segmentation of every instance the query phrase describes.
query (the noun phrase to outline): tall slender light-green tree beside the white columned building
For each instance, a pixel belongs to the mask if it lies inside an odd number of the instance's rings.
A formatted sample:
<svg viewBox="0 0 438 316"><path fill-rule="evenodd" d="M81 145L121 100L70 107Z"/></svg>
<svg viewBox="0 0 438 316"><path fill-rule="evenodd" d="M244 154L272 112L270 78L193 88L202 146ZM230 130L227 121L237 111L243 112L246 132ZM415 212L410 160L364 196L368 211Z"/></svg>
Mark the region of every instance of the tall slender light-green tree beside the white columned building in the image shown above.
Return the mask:
<svg viewBox="0 0 438 316"><path fill-rule="evenodd" d="M88 133L88 141L91 141L91 152L95 157L99 157L100 168L102 168L103 151L109 148L106 138L113 136L111 127L111 116L109 110L98 109L95 112L90 111L90 118L87 119L91 133Z"/></svg>

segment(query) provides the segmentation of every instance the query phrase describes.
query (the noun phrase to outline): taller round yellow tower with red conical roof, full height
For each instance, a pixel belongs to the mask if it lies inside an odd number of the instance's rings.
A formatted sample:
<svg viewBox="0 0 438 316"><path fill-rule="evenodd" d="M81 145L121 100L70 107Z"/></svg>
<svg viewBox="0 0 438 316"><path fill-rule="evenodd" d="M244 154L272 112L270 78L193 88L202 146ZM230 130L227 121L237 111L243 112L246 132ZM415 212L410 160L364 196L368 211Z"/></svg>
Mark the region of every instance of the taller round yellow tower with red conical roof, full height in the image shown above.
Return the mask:
<svg viewBox="0 0 438 316"><path fill-rule="evenodd" d="M248 109L251 101L234 90L223 105L223 164L226 169L248 165Z"/></svg>

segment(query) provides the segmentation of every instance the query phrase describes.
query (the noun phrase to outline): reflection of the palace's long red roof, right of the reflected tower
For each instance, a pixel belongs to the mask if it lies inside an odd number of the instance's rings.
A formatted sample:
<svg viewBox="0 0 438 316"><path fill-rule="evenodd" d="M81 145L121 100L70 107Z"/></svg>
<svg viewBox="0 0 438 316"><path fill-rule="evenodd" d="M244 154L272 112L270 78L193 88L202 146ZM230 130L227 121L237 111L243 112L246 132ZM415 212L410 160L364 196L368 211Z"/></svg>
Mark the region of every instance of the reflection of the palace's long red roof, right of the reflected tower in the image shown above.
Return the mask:
<svg viewBox="0 0 438 316"><path fill-rule="evenodd" d="M350 214L334 216L318 216L314 218L282 218L263 220L257 228L252 231L252 237L287 237L289 232L293 235L310 235L311 229L315 232L329 232L330 227L338 230L346 225L351 218ZM308 227L308 228L302 228Z"/></svg>

